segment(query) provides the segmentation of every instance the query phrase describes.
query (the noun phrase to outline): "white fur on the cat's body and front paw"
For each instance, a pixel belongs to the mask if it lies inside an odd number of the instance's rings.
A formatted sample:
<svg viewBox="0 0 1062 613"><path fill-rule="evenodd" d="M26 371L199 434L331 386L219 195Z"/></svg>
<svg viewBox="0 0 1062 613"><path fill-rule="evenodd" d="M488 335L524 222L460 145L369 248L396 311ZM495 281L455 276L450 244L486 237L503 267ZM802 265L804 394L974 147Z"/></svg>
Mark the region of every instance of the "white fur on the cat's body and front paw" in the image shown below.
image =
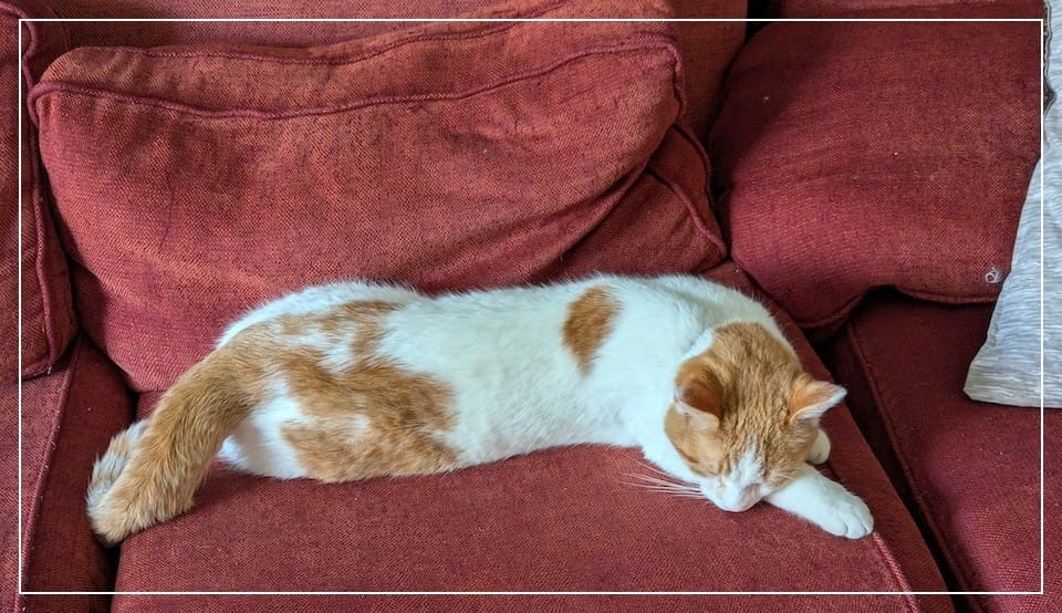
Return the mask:
<svg viewBox="0 0 1062 613"><path fill-rule="evenodd" d="M606 290L617 310L592 367L582 373L564 345L562 330L570 304L595 287ZM405 288L335 283L251 312L233 324L219 344L249 325L284 314L324 312L352 300L404 304L386 315L377 352L379 357L427 374L452 389L455 419L441 440L458 451L465 466L563 445L637 446L666 472L700 486L720 508L743 510L766 493L762 467L752 450L729 480L709 482L690 470L663 428L679 365L711 345L712 329L738 321L760 323L789 346L768 311L735 290L687 276L600 276L549 287L428 299ZM332 340L312 331L293 342L324 350L326 365L335 370L356 359L345 349L348 342L329 347ZM241 424L226 441L223 456L256 472L301 476L294 454L274 434L283 423L298 420L298 413L281 391ZM826 445L829 453L829 441ZM816 446L813 451L821 451L818 440ZM815 459L821 454L812 455ZM851 536L858 529L850 524L870 526L867 513L862 522L847 516L839 519L844 512L837 509L846 500L839 491L844 490L836 484L833 489L823 484L832 481L802 476L784 488L787 493L775 492L768 500L833 533ZM805 495L819 499L802 501ZM847 502L848 515L858 515L851 510L857 506ZM865 511L865 506L862 509Z"/></svg>

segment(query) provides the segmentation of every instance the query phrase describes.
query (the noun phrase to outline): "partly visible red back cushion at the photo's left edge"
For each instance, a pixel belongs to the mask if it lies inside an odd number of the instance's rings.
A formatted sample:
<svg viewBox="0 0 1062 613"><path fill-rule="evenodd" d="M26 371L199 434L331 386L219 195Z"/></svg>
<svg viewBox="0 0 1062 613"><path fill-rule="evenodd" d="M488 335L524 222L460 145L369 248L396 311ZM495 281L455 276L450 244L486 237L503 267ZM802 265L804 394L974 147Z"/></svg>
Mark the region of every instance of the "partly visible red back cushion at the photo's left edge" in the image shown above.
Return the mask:
<svg viewBox="0 0 1062 613"><path fill-rule="evenodd" d="M18 113L19 19L50 17L35 2L0 2L0 81L8 84L0 110L0 330L18 329L19 264L22 267L22 374L45 372L75 331L66 263L55 238L41 184L37 138L29 121L20 135ZM30 23L23 28L25 74L41 70L65 48L61 28ZM23 93L32 80L23 79ZM25 115L23 114L23 120ZM22 139L22 226L19 227L19 138ZM21 235L22 251L19 251ZM18 378L18 347L12 333L0 346L0 383Z"/></svg>

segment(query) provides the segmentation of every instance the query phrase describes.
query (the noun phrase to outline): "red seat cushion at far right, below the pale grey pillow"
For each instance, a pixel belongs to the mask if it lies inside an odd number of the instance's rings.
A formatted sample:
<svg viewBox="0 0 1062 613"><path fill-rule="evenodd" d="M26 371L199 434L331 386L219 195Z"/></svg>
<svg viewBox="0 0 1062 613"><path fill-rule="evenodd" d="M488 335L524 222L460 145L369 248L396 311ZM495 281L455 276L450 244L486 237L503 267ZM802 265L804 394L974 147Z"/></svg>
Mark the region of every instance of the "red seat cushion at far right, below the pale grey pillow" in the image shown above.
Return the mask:
<svg viewBox="0 0 1062 613"><path fill-rule="evenodd" d="M969 401L966 368L983 341L990 305L947 306L893 294L867 300L831 350L848 404L895 455L958 590L1040 589L1039 411ZM1062 415L1048 412L1048 598L985 596L988 611L1062 610Z"/></svg>

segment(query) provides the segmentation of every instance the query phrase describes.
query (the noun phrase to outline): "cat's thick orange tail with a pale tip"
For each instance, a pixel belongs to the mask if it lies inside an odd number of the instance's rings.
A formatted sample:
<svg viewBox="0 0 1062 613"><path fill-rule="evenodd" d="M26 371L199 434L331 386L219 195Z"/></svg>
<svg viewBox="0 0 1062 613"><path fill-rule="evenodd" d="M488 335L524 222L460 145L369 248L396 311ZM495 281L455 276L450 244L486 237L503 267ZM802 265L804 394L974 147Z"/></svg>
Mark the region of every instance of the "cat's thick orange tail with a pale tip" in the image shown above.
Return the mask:
<svg viewBox="0 0 1062 613"><path fill-rule="evenodd" d="M254 406L241 361L222 346L177 380L149 417L116 435L92 470L93 531L106 544L188 510L222 440Z"/></svg>

